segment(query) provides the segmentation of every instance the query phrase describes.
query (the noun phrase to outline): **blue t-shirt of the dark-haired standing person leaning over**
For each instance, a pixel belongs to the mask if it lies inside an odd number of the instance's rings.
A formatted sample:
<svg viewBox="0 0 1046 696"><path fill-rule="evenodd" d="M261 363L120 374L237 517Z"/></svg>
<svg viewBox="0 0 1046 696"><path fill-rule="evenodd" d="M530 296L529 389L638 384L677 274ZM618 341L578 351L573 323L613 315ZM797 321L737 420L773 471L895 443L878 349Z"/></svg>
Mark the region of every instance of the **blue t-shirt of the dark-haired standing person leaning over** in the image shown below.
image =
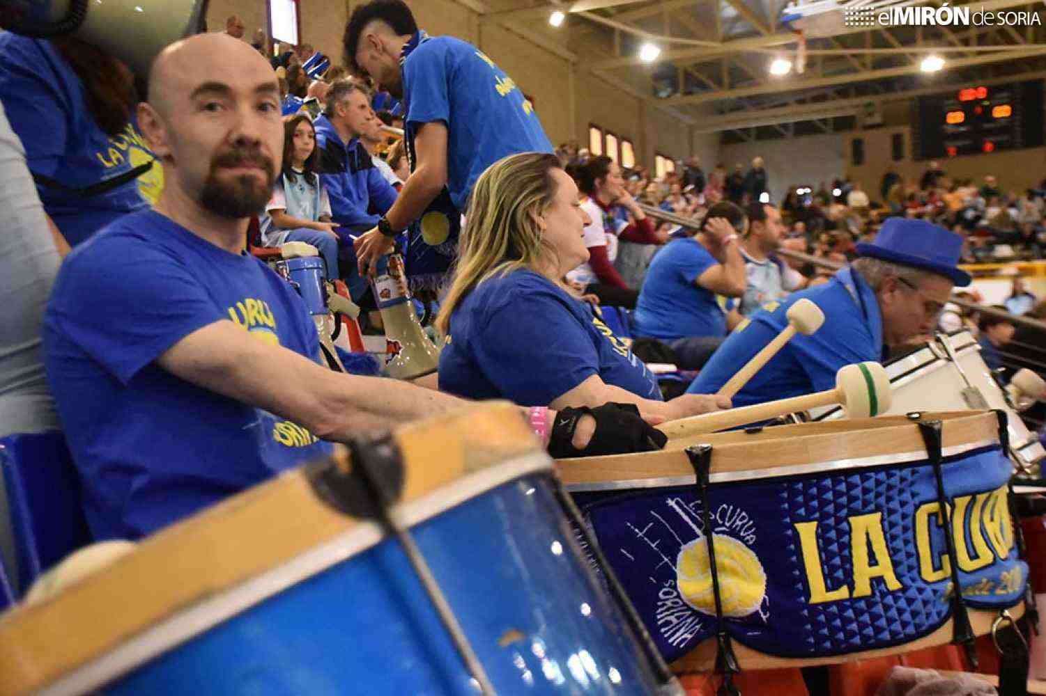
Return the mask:
<svg viewBox="0 0 1046 696"><path fill-rule="evenodd" d="M464 210L479 175L501 158L552 152L516 83L459 39L423 33L403 63L403 91L408 131L447 124L447 188L458 210Z"/></svg>

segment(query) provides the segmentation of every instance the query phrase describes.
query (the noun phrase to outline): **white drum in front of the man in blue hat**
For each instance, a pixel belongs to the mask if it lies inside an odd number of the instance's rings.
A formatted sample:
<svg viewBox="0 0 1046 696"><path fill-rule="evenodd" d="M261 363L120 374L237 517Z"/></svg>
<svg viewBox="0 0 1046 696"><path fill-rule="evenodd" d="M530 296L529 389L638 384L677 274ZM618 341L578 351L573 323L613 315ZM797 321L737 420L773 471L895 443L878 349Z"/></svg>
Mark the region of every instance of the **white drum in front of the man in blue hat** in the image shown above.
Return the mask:
<svg viewBox="0 0 1046 696"><path fill-rule="evenodd" d="M943 338L943 337L942 337ZM893 403L888 415L912 411L955 411L961 409L1001 409L1008 418L1011 456L1022 465L1033 464L1044 457L1039 438L1021 420L1006 395L992 377L980 356L980 346L969 331L948 337L955 361L936 341L904 357L886 364L886 373L893 387ZM977 394L983 403L977 403ZM839 407L811 412L814 420L842 418Z"/></svg>

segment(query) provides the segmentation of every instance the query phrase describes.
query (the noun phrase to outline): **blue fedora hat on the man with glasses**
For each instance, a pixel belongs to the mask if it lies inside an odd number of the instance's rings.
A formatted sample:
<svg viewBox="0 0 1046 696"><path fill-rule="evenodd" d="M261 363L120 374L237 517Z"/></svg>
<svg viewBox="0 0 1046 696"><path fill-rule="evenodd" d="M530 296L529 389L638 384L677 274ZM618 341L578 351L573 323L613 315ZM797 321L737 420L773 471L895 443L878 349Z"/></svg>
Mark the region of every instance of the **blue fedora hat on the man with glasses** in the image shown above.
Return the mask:
<svg viewBox="0 0 1046 696"><path fill-rule="evenodd" d="M970 274L957 264L962 237L923 219L888 217L870 242L857 245L858 256L871 256L950 278L960 287L969 285Z"/></svg>

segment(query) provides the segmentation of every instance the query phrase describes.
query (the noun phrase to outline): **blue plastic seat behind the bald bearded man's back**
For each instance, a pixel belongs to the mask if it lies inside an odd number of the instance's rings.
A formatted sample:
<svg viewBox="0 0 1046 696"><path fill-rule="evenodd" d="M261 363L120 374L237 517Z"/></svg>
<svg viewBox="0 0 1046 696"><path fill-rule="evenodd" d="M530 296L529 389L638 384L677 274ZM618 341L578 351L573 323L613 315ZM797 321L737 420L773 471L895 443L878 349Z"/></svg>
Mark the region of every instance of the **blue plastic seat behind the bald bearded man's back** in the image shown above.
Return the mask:
<svg viewBox="0 0 1046 696"><path fill-rule="evenodd" d="M91 542L81 505L79 479L61 433L0 438L0 469L7 488L24 591L41 574Z"/></svg>

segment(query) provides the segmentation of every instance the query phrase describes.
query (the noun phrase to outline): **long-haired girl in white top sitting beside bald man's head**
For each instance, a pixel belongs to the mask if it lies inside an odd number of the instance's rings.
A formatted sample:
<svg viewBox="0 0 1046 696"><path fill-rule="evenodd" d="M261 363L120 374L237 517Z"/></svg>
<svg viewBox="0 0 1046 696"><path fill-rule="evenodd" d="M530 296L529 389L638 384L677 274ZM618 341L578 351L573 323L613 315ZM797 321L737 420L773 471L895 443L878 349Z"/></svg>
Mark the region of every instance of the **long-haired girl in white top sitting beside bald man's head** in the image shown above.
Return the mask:
<svg viewBox="0 0 1046 696"><path fill-rule="evenodd" d="M319 250L327 278L338 278L338 235L331 201L317 173L316 130L306 114L287 119L282 171L262 218L262 243L304 241Z"/></svg>

